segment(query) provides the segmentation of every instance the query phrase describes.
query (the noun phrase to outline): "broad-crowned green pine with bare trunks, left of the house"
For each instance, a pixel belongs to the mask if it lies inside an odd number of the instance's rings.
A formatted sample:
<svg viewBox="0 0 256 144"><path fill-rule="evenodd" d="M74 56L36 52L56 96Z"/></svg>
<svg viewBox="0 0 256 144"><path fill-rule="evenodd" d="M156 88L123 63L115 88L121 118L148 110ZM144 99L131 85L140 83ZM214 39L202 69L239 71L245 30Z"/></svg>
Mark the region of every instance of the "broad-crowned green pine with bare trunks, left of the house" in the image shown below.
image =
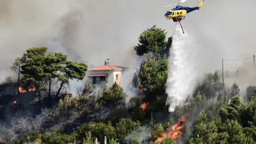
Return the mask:
<svg viewBox="0 0 256 144"><path fill-rule="evenodd" d="M35 86L41 109L41 90L47 93L51 99L52 82L57 79L60 86L56 97L64 84L68 84L69 79L82 80L86 75L87 65L84 63L67 60L67 55L54 53L45 55L47 47L33 47L27 50L28 60L23 63L21 74L23 86ZM49 102L51 105L51 102Z"/></svg>

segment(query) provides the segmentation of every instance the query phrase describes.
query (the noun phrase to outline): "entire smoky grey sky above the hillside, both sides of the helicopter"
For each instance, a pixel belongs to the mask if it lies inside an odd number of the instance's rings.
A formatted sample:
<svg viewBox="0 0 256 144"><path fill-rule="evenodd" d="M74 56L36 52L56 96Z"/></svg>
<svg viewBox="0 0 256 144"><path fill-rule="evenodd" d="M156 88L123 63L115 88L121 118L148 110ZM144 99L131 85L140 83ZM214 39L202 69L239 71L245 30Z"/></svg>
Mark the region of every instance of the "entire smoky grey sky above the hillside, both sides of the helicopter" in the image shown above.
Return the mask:
<svg viewBox="0 0 256 144"><path fill-rule="evenodd" d="M110 58L111 64L132 67L136 60L132 47L143 30L156 25L172 35L174 22L164 18L163 6L175 2L1 1L0 80L10 74L6 70L16 57L36 46L48 46L89 65L103 65ZM250 15L256 11L254 3L205 0L201 10L187 15L182 25L197 44L198 68L214 69L222 57L244 58L255 52L255 20ZM188 0L183 5L194 7L198 2Z"/></svg>

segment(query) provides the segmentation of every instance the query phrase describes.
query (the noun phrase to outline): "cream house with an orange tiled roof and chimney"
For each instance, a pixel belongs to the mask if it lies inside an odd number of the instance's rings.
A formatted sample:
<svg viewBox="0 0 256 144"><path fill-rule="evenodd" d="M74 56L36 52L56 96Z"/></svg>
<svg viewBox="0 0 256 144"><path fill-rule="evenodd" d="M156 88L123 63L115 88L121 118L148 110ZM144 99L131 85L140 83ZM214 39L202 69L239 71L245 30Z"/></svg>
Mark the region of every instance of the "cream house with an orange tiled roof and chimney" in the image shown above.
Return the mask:
<svg viewBox="0 0 256 144"><path fill-rule="evenodd" d="M105 65L87 70L87 76L92 81L94 86L105 87L106 85L113 85L115 82L121 84L123 71L126 67L119 67L109 65L109 59L105 60Z"/></svg>

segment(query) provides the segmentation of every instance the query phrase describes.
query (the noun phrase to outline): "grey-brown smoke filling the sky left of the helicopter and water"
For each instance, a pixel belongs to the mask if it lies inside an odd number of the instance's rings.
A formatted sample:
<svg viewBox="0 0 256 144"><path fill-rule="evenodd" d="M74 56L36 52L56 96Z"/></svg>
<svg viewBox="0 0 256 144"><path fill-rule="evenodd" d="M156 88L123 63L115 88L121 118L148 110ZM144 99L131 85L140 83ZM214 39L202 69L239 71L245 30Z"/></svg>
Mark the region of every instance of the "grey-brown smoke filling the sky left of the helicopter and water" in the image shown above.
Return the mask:
<svg viewBox="0 0 256 144"><path fill-rule="evenodd" d="M143 6L145 2L147 6ZM9 67L15 58L37 46L63 52L70 60L85 61L89 66L103 65L110 58L111 65L129 67L137 60L132 47L143 30L153 25L168 29L170 23L163 19L166 10L162 9L166 2L0 2L0 81L13 76ZM150 19L145 17L148 14Z"/></svg>

